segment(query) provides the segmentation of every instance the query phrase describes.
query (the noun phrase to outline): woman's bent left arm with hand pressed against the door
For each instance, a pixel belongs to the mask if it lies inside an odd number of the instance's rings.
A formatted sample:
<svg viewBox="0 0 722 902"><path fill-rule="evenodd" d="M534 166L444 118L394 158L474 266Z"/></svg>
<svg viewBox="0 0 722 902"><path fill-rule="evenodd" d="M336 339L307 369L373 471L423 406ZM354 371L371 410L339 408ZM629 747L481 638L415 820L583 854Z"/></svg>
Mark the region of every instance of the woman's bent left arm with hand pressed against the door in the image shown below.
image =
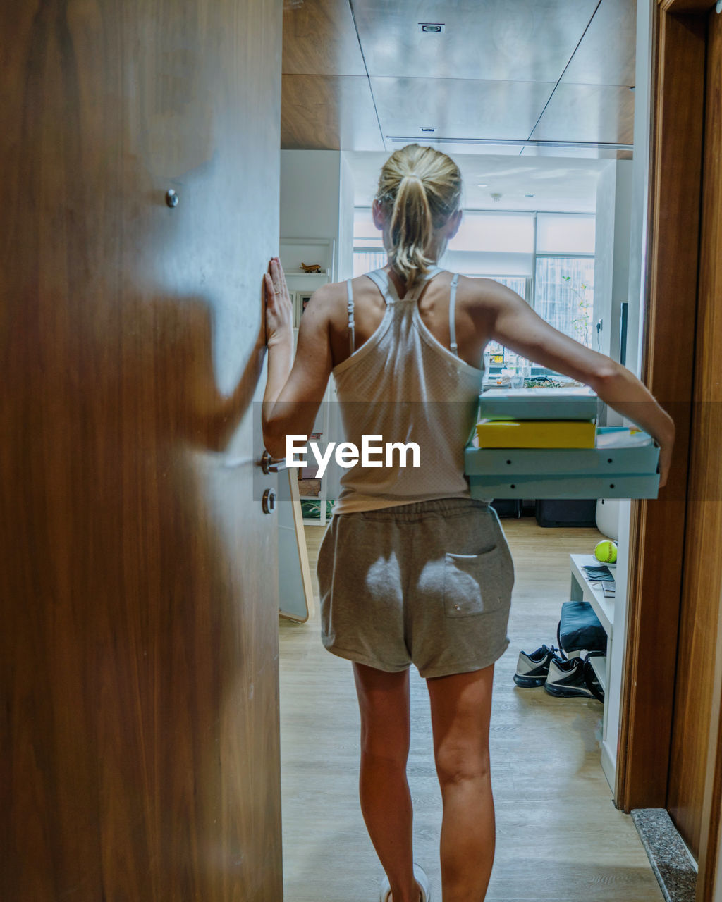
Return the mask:
<svg viewBox="0 0 722 902"><path fill-rule="evenodd" d="M262 413L264 445L286 456L286 436L305 435L323 400L331 373L326 286L314 292L301 317L293 359L292 302L281 262L273 258L264 277L268 373Z"/></svg>

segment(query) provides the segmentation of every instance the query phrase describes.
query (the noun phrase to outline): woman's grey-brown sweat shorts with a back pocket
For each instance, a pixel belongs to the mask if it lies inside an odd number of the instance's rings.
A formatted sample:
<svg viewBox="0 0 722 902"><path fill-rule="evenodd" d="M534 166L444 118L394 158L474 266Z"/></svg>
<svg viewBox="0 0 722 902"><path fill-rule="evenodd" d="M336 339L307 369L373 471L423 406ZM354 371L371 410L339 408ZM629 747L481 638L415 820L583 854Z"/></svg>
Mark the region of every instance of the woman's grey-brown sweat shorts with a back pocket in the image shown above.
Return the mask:
<svg viewBox="0 0 722 902"><path fill-rule="evenodd" d="M334 514L316 573L321 640L341 658L449 676L488 667L509 646L514 564L486 502Z"/></svg>

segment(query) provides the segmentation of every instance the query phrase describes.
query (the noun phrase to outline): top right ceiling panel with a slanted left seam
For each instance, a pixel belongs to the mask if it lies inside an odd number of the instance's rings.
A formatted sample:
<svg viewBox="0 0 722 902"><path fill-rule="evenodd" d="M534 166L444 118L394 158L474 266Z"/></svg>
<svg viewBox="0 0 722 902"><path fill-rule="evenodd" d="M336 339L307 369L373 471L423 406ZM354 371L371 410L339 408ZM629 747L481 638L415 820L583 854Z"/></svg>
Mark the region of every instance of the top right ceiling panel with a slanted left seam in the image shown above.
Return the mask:
<svg viewBox="0 0 722 902"><path fill-rule="evenodd" d="M561 83L634 85L636 0L602 0Z"/></svg>

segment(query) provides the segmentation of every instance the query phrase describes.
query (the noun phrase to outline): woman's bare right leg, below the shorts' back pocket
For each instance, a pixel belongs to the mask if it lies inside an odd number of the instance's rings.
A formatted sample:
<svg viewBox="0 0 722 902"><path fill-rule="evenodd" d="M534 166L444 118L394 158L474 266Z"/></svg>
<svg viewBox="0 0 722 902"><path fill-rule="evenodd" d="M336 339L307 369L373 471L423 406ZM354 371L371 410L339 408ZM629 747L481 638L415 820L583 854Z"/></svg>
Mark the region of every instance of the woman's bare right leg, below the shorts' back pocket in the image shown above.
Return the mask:
<svg viewBox="0 0 722 902"><path fill-rule="evenodd" d="M489 769L494 665L428 679L441 787L443 902L483 902L495 851Z"/></svg>

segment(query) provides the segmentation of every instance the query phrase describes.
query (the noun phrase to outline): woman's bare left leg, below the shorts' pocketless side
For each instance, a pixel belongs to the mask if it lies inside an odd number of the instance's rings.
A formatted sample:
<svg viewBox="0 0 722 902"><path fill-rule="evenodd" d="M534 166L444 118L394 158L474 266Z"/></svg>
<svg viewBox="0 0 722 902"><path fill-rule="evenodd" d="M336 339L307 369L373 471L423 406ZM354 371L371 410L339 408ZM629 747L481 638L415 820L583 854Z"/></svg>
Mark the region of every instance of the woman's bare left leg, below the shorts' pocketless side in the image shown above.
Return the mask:
<svg viewBox="0 0 722 902"><path fill-rule="evenodd" d="M391 883L393 902L419 902L413 877L409 757L409 671L354 664L361 709L359 795L366 829Z"/></svg>

